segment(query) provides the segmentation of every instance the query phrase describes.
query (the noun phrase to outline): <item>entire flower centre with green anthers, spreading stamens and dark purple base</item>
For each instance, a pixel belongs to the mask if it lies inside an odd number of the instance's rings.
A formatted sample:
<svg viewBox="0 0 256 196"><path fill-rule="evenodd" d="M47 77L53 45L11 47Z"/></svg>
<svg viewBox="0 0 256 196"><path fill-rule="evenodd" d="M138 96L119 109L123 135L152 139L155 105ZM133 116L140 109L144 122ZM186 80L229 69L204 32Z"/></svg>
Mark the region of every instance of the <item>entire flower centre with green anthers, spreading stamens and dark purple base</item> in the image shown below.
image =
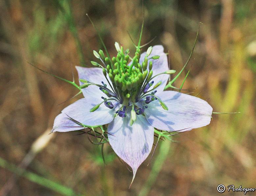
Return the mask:
<svg viewBox="0 0 256 196"><path fill-rule="evenodd" d="M117 42L115 42L115 48L118 53L116 57L112 58L112 60L105 57L102 50L100 50L99 53L93 51L95 57L100 59L104 66L91 61L93 65L102 67L102 71L108 85L104 84L103 81L101 82L102 85L98 85L90 81L80 79L80 81L84 83L80 88L86 88L89 85L98 86L99 89L108 97L101 97L103 101L100 104L104 103L109 109L113 109L116 105L121 104L122 106L120 109L116 111L120 117L126 117L128 108L131 108L131 117L136 120L136 114L143 114L144 110L147 108L147 106L145 106L146 104L159 99L155 96L157 91L153 90L161 85L161 81L153 86L154 81L152 79L160 74L172 74L175 71L168 70L152 77L153 63L149 60L157 60L160 56L156 55L149 58L152 51L151 46L148 48L141 64L139 63L141 58L140 48L137 48L134 58L129 56L129 49L124 52L123 46L121 45L120 47ZM132 62L128 63L130 59ZM163 108L167 109L166 105L160 99L159 101ZM140 104L138 104L138 102L140 102ZM100 104L93 107L90 111L92 112L97 110Z"/></svg>

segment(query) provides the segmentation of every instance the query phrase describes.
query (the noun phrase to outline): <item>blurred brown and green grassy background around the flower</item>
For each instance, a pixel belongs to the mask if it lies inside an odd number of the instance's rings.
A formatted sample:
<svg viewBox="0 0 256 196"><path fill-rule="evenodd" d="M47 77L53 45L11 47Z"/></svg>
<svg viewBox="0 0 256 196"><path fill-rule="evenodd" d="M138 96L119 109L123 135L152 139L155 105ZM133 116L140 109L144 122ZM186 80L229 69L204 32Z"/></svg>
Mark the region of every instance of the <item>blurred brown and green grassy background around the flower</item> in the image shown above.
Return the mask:
<svg viewBox="0 0 256 196"><path fill-rule="evenodd" d="M256 188L256 1L146 0L144 7L142 43L157 36L150 45L164 45L177 71L189 57L198 22L203 23L192 60L174 85L181 85L193 61L183 88L197 87L189 92L202 91L199 97L210 98L215 112L241 113L213 114L210 125L174 136L178 142L169 144L163 166L157 166L162 153L158 148L128 189L132 173L109 145L104 146L104 164L100 146L86 135L48 135L54 118L82 95L58 105L77 89L27 61L72 80L71 64L90 64L95 60L92 51L103 49L86 13L110 56L116 53L115 41L133 53L127 31L137 42L142 2L0 0L0 162L4 159L82 195L218 195L218 184ZM13 175L17 172L2 163L0 194L64 195ZM152 170L155 165L159 173Z"/></svg>

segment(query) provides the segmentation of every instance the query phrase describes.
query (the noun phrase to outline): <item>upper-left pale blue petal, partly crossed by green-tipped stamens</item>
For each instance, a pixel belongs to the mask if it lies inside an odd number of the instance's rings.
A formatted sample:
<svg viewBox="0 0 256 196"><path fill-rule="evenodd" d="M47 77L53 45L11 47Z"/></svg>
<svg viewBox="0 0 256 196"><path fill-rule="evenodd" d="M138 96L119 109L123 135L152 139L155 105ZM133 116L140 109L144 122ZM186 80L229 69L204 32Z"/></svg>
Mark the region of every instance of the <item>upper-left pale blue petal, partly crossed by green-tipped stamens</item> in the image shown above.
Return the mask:
<svg viewBox="0 0 256 196"><path fill-rule="evenodd" d="M76 66L76 70L78 72L79 79L88 80L98 85L102 85L101 81L103 81L107 85L107 88L110 89L108 81L103 75L102 68L98 68L98 67L86 68L86 67ZM79 84L82 85L84 83L81 83L79 81ZM101 98L101 96L106 97L106 94L103 93L99 89L99 87L95 85L90 85L87 88L82 89L82 91L83 91L84 97L96 97L96 98Z"/></svg>

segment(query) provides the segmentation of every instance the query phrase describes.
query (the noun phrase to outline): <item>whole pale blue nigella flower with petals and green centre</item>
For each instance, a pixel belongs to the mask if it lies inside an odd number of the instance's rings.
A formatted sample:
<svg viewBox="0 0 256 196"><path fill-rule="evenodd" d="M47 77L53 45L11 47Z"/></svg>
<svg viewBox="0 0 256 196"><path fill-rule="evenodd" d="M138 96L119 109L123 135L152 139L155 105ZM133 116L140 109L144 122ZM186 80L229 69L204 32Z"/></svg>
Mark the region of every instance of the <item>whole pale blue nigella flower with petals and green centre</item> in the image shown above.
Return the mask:
<svg viewBox="0 0 256 196"><path fill-rule="evenodd" d="M148 157L154 128L189 131L210 123L212 107L204 100L176 91L164 91L169 79L167 56L161 45L149 47L128 63L129 51L115 44L110 61L100 50L94 55L102 68L76 67L85 98L59 114L52 132L81 130L108 124L108 141L115 153L133 169L133 179ZM92 64L98 64L92 62ZM100 65L101 66L101 65Z"/></svg>

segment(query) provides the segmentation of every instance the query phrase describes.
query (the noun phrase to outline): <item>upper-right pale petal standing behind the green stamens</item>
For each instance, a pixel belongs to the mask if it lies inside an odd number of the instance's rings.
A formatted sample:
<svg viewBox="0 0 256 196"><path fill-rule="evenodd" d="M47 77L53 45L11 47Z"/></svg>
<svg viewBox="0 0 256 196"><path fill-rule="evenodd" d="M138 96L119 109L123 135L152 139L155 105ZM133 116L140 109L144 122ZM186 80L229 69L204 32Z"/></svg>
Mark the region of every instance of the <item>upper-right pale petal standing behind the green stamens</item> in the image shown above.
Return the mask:
<svg viewBox="0 0 256 196"><path fill-rule="evenodd" d="M162 45L153 46L152 47L152 52L151 52L151 54L149 55L148 58L153 57L155 55L159 55L160 56L159 59L149 60L149 61L152 61L152 63L153 63L153 66L152 66L153 76L169 70L168 59L167 59L166 54L164 53L164 47ZM140 64L142 64L142 62L144 61L145 56L146 56L146 52L143 52L141 54ZM149 61L148 61L148 65L149 65ZM131 65L131 62L129 63L129 65ZM148 67L147 67L147 69L148 69ZM168 74L161 74L161 75L159 75L159 76L157 76L153 79L154 84L157 84L159 81L162 81L162 84L159 87L156 88L156 90L158 92L162 92L164 90L164 88L166 86L166 83L169 79L169 76L170 75L168 75Z"/></svg>

